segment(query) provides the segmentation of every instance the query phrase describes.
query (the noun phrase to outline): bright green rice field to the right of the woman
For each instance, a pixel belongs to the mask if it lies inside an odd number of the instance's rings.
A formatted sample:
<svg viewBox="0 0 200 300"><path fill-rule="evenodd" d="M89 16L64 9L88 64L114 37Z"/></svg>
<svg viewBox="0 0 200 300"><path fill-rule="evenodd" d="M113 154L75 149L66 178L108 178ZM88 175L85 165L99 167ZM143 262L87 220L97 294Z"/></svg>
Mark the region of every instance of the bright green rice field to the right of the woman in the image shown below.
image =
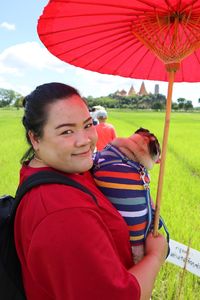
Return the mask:
<svg viewBox="0 0 200 300"><path fill-rule="evenodd" d="M119 136L129 136L137 128L153 132L162 142L165 113L112 111L109 121ZM200 114L172 113L165 162L161 215L170 238L200 251ZM162 144L162 143L161 143ZM156 199L159 167L150 171L151 194ZM183 278L183 279L182 279ZM182 284L182 286L180 286ZM166 263L157 278L153 300L200 299L200 278Z"/></svg>

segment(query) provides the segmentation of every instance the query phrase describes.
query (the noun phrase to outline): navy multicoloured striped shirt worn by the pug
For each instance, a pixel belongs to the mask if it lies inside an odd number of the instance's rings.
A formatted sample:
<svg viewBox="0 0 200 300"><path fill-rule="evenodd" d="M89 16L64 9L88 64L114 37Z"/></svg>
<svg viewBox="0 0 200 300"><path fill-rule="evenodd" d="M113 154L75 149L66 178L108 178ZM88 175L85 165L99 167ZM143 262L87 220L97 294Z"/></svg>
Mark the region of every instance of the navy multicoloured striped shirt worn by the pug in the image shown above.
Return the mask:
<svg viewBox="0 0 200 300"><path fill-rule="evenodd" d="M108 145L94 155L92 172L99 189L126 221L131 244L144 243L152 222L147 170Z"/></svg>

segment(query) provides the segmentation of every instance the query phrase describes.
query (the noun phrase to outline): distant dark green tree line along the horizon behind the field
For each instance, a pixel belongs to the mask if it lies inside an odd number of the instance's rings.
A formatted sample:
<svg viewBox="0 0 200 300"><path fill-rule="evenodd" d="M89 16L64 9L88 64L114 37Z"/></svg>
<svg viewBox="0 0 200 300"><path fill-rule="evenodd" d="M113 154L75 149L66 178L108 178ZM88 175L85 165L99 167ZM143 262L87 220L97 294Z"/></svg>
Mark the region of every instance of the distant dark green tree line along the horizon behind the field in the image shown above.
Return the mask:
<svg viewBox="0 0 200 300"><path fill-rule="evenodd" d="M164 110L166 106L166 97L162 94L148 94L148 95L133 95L120 96L116 93L109 94L106 97L88 96L85 98L89 107L101 105L105 108L124 108L124 109L153 109ZM0 107L14 106L16 108L22 107L23 95L20 93L0 88ZM200 103L200 98L198 99ZM177 102L172 102L173 110L193 110L191 100L185 98L177 99Z"/></svg>

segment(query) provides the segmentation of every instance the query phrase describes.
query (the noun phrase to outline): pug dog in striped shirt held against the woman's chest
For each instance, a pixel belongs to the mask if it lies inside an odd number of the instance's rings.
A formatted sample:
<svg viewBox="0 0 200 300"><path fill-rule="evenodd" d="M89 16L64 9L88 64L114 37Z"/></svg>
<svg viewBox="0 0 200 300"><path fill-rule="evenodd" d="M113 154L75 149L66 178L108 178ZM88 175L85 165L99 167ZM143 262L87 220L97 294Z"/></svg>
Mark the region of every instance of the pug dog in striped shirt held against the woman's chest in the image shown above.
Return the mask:
<svg viewBox="0 0 200 300"><path fill-rule="evenodd" d="M144 256L144 241L153 225L147 170L159 163L160 155L157 138L144 128L128 138L114 139L94 155L95 182L128 225L134 263Z"/></svg>

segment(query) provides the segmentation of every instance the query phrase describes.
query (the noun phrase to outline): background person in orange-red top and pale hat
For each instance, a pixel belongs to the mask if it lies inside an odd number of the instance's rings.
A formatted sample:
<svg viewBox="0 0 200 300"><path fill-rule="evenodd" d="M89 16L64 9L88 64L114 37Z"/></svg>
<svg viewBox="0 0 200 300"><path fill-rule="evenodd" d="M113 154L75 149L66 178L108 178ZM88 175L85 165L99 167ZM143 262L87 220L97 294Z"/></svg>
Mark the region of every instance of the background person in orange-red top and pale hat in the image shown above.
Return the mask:
<svg viewBox="0 0 200 300"><path fill-rule="evenodd" d="M105 110L99 110L96 114L99 124L96 125L98 140L96 150L101 151L103 148L117 137L115 128L112 124L107 123L108 114Z"/></svg>

